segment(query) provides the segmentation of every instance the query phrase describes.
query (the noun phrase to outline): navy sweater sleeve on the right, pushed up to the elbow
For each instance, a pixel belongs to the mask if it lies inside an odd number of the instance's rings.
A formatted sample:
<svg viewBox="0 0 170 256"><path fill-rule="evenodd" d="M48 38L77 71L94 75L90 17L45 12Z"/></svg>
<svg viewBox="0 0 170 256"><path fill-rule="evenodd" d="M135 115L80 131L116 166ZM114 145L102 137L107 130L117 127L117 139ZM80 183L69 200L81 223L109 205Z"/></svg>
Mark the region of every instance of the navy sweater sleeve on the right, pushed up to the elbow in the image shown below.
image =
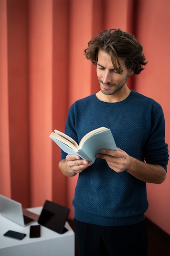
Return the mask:
<svg viewBox="0 0 170 256"><path fill-rule="evenodd" d="M153 101L151 112L151 130L145 145L145 161L159 164L167 171L168 144L165 143L165 119L159 103Z"/></svg>

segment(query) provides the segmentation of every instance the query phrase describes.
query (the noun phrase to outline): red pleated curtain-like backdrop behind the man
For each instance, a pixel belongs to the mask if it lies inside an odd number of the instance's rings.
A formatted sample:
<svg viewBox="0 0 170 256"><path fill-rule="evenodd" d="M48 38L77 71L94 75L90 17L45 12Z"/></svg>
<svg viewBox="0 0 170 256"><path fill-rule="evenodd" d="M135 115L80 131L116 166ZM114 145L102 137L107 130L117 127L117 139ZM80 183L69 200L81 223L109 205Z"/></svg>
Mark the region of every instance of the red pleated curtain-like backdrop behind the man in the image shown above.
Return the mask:
<svg viewBox="0 0 170 256"><path fill-rule="evenodd" d="M1 194L24 207L53 200L70 207L73 218L77 177L58 169L60 148L49 134L64 131L75 100L99 90L83 50L104 29L121 28L143 44L148 64L128 85L161 103L170 141L169 24L169 0L0 1ZM168 181L167 175L159 186L147 184L146 214L170 234Z"/></svg>

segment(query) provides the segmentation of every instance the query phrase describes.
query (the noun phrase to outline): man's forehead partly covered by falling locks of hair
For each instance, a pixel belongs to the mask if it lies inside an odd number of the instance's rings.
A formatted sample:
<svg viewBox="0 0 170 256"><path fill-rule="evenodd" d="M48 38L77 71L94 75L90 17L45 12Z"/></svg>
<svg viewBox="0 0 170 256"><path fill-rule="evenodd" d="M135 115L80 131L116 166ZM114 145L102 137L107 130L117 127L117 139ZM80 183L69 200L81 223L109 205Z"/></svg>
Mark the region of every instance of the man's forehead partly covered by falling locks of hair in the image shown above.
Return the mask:
<svg viewBox="0 0 170 256"><path fill-rule="evenodd" d="M119 63L121 65L121 67L122 68L126 67L125 60L121 59L121 58L118 58L118 59L119 59ZM99 52L98 52L97 64L98 63L104 67L105 67L105 65L109 65L110 66L109 68L112 68L112 69L114 68L110 55L107 52L102 51L101 49L99 49ZM116 61L116 63L117 63L117 61Z"/></svg>

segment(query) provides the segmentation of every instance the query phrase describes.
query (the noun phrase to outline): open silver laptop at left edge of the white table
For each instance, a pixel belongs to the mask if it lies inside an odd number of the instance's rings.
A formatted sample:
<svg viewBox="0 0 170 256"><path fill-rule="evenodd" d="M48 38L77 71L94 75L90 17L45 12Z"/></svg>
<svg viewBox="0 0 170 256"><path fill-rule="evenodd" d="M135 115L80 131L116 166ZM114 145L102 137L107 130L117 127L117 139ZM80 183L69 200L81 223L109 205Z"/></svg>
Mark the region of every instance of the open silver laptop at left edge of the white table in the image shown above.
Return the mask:
<svg viewBox="0 0 170 256"><path fill-rule="evenodd" d="M3 217L23 227L37 221L39 218L38 214L22 208L22 204L3 195L0 195L0 213Z"/></svg>

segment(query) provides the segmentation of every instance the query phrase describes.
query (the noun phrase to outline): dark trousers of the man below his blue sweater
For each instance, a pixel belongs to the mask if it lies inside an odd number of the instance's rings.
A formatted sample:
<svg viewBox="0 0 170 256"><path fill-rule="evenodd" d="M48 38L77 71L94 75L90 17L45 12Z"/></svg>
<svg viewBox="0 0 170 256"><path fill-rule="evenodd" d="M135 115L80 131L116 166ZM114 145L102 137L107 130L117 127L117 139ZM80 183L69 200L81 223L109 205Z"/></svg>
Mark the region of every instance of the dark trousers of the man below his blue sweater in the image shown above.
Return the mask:
<svg viewBox="0 0 170 256"><path fill-rule="evenodd" d="M74 221L79 256L147 256L145 221L119 227Z"/></svg>

